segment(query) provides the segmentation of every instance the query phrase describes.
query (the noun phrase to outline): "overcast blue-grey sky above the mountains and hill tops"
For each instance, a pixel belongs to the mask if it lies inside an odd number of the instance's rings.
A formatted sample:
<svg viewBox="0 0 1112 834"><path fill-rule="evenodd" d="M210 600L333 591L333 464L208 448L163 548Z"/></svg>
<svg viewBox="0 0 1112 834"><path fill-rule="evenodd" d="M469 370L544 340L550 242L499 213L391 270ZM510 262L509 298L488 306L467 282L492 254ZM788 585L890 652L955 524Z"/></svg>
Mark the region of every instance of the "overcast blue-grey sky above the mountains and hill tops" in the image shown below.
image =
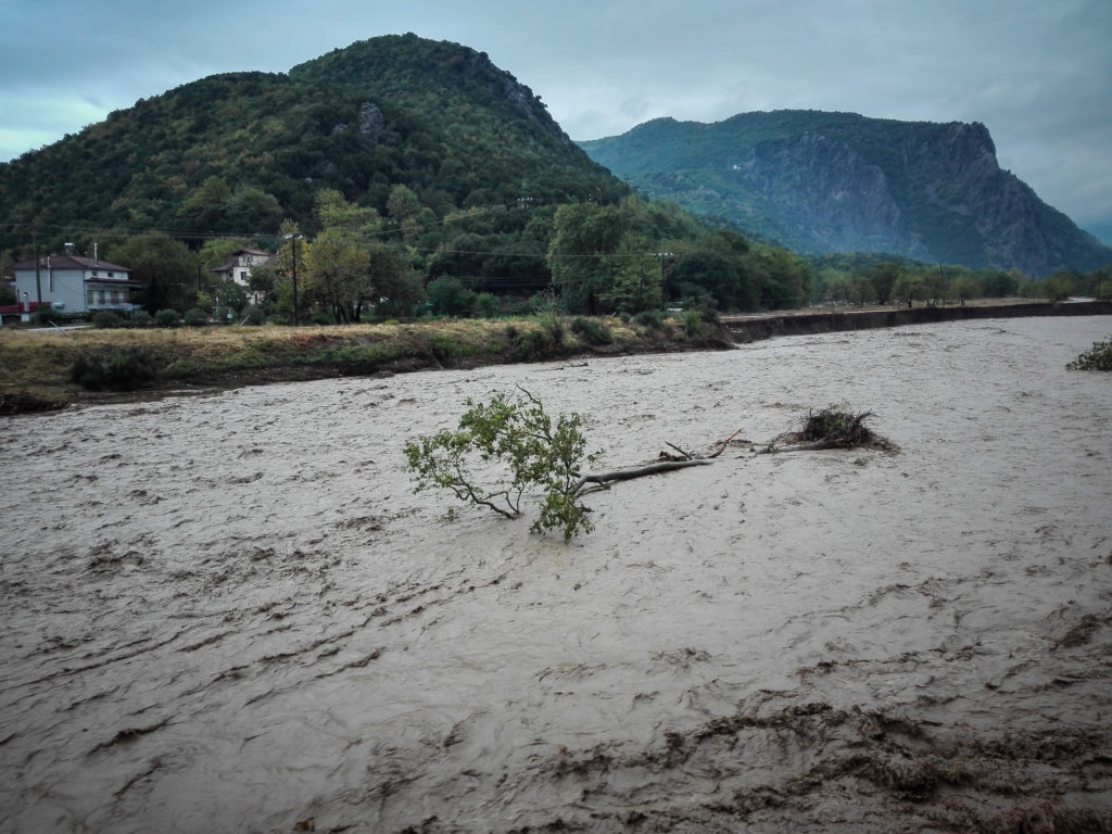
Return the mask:
<svg viewBox="0 0 1112 834"><path fill-rule="evenodd" d="M0 0L0 160L215 72L409 31L487 52L574 139L785 108L981 121L1003 168L1112 242L1112 0Z"/></svg>

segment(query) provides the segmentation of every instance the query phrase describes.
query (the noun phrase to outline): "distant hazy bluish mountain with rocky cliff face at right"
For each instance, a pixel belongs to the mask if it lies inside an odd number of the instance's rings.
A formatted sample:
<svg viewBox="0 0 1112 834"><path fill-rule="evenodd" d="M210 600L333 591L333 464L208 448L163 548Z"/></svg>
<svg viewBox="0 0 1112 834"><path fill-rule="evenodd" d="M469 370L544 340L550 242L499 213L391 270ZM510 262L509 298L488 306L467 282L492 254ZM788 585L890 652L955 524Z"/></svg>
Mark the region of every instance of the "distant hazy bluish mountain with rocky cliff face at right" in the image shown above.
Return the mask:
<svg viewBox="0 0 1112 834"><path fill-rule="evenodd" d="M1112 262L1112 248L1000 168L980 122L778 110L709 125L655 119L579 146L652 197L801 252L1033 276Z"/></svg>

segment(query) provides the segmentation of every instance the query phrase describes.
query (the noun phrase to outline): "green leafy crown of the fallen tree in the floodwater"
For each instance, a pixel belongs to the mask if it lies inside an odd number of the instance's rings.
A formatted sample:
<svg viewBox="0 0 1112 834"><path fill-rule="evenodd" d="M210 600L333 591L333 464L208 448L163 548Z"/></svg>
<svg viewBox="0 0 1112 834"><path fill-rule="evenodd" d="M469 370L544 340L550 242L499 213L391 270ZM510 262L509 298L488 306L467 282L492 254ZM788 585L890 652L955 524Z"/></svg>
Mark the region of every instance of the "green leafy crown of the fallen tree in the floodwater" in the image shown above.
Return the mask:
<svg viewBox="0 0 1112 834"><path fill-rule="evenodd" d="M594 527L587 508L577 502L579 468L597 456L585 455L586 439L578 414L559 415L555 423L540 400L522 389L508 400L497 396L486 404L468 399L455 431L421 435L406 444L406 461L416 481L414 492L438 487L457 498L513 518L522 513L526 492L539 490L540 513L534 533L559 529L564 539ZM471 474L476 460L496 460L500 473L490 486Z"/></svg>

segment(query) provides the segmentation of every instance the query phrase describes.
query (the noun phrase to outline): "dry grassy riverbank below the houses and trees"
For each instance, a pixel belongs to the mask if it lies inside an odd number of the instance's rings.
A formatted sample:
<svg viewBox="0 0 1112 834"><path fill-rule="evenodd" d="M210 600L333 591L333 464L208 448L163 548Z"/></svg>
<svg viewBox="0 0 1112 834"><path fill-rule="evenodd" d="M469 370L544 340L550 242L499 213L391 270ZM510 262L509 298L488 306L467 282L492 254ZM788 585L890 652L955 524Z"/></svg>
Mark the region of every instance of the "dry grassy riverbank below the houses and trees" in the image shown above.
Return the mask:
<svg viewBox="0 0 1112 834"><path fill-rule="evenodd" d="M484 319L298 328L6 328L0 331L0 413L136 391L713 348L728 338L713 325L692 331L674 319L652 325Z"/></svg>

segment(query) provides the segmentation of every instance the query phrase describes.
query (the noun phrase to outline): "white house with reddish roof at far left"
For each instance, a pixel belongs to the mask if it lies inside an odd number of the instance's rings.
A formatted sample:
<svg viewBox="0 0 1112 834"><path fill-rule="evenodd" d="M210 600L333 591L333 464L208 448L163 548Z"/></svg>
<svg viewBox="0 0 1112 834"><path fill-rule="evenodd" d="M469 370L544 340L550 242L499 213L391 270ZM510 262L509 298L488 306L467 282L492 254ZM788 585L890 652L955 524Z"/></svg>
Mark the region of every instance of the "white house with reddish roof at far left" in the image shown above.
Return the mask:
<svg viewBox="0 0 1112 834"><path fill-rule="evenodd" d="M13 271L20 304L41 299L61 312L128 310L131 291L141 286L128 267L70 254L39 258L38 278L33 260L17 264Z"/></svg>

